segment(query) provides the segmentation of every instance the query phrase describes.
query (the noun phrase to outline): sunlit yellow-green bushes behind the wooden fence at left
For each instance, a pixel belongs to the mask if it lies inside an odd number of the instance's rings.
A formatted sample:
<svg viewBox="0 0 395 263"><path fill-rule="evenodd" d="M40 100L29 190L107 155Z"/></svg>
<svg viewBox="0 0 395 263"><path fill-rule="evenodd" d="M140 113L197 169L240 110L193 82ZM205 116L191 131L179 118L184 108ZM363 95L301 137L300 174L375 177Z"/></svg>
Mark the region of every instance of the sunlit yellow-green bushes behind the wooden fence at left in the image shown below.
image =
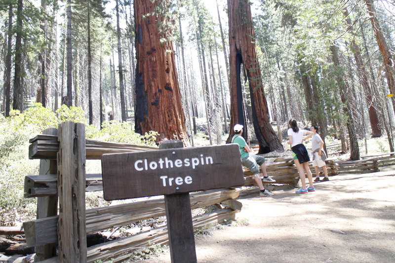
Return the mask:
<svg viewBox="0 0 395 263"><path fill-rule="evenodd" d="M58 123L64 121L86 123L81 108L62 106L53 113L39 103L24 113L11 111L7 118L0 115L0 224L28 221L36 216L36 198L23 197L25 176L37 175L40 163L28 159L29 139L44 129L57 128ZM103 126L100 131L93 125L86 125L86 138L154 146L158 136L156 132L136 134L126 122L107 122ZM92 206L98 202L94 195L87 198Z"/></svg>

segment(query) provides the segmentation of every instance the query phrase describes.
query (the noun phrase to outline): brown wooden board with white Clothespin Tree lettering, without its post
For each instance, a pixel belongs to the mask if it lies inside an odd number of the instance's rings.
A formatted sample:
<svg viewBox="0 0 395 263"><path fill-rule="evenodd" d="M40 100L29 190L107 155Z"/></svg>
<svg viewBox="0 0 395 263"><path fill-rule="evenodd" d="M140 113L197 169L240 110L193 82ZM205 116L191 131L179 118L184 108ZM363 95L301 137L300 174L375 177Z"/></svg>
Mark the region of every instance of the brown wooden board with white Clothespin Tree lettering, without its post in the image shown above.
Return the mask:
<svg viewBox="0 0 395 263"><path fill-rule="evenodd" d="M241 167L235 144L104 154L104 199L242 186Z"/></svg>

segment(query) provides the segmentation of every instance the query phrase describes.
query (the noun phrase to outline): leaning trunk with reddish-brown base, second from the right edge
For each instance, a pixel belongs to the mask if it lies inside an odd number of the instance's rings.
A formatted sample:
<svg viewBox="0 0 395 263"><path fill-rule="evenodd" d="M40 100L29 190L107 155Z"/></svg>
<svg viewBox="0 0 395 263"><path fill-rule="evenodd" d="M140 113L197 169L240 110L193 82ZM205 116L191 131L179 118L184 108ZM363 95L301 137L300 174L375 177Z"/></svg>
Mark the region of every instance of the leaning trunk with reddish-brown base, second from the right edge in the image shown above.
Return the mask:
<svg viewBox="0 0 395 263"><path fill-rule="evenodd" d="M347 22L347 25L349 26L349 31L351 32L351 34L354 34L353 24L351 23L351 20L348 17L349 12L348 12L347 8L344 9L344 15L347 18L346 22ZM362 84L363 90L365 92L365 100L366 100L366 104L368 106L370 126L372 127L372 137L373 138L381 137L379 118L377 116L376 109L374 108L374 103L373 103L373 98L372 98L371 84L370 84L364 63L362 61L362 56L361 56L359 46L356 44L356 41L354 38L351 41L351 45L353 46L352 51L354 53L354 58L356 61L356 67L357 67L357 72L359 75L359 81Z"/></svg>

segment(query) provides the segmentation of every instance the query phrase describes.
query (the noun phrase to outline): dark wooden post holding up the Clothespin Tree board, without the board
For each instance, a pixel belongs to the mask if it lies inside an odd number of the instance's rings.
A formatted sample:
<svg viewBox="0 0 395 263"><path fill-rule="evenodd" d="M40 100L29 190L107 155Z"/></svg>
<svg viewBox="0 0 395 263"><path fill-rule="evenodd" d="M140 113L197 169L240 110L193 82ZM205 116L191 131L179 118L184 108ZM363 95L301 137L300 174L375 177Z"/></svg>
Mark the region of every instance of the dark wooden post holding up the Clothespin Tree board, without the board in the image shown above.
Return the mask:
<svg viewBox="0 0 395 263"><path fill-rule="evenodd" d="M159 149L182 148L180 140L163 141ZM172 263L196 263L194 227L189 192L164 195Z"/></svg>

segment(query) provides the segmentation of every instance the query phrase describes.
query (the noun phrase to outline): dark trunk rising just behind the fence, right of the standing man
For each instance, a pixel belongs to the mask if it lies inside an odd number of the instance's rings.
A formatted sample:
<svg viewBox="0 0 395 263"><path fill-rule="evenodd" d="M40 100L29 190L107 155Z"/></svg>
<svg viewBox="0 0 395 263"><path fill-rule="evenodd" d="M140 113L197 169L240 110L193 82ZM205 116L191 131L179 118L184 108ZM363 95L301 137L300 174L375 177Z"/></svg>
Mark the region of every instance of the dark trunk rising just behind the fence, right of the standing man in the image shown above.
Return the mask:
<svg viewBox="0 0 395 263"><path fill-rule="evenodd" d="M338 48L335 45L332 45L330 47L331 52L332 52L332 58L333 58L333 64L336 67L340 67L339 63L339 55L338 55ZM349 99L350 96L347 96L347 90L348 90L348 83L347 80L344 78L344 75L339 72L336 76L337 78L337 83L339 86L339 91L340 91L340 98L343 103L343 112L347 115L348 120L347 120L347 130L349 132L349 137L350 137L350 158L352 160L359 160L359 147L358 147L358 140L356 138L356 132L355 132L355 126L354 126L354 120L353 120L353 115L351 113L351 107L349 104Z"/></svg>

